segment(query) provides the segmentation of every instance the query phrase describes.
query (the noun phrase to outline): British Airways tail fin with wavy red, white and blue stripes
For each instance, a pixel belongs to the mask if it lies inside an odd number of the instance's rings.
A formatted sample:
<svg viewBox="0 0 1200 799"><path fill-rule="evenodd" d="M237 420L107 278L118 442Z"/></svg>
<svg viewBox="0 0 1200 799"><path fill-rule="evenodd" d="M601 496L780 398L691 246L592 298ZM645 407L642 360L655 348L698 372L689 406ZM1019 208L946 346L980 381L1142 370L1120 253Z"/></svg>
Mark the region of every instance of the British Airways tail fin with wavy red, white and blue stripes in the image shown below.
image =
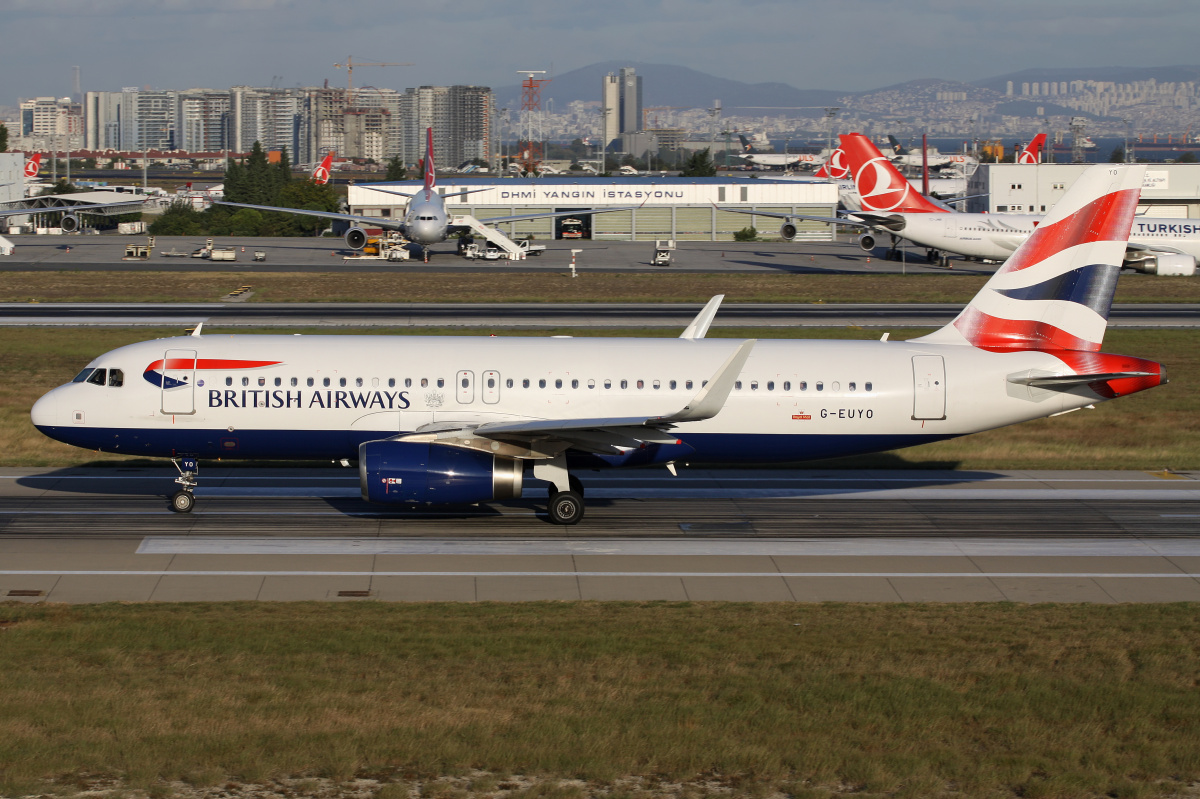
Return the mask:
<svg viewBox="0 0 1200 799"><path fill-rule="evenodd" d="M1098 353L1145 172L1085 172L954 322L919 341Z"/></svg>

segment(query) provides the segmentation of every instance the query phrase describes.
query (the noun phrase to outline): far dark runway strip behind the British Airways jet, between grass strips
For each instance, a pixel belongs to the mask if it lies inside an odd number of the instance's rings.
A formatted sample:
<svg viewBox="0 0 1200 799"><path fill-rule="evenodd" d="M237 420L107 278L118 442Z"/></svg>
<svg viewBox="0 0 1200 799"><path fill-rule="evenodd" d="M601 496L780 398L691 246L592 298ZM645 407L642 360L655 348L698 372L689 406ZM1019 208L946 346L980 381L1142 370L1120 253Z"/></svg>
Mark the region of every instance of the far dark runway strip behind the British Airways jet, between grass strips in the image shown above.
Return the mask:
<svg viewBox="0 0 1200 799"><path fill-rule="evenodd" d="M700 311L688 304L432 302L2 302L0 325L222 328L679 328ZM726 304L718 328L940 328L955 304ZM1111 328L1198 328L1200 305L1115 305Z"/></svg>

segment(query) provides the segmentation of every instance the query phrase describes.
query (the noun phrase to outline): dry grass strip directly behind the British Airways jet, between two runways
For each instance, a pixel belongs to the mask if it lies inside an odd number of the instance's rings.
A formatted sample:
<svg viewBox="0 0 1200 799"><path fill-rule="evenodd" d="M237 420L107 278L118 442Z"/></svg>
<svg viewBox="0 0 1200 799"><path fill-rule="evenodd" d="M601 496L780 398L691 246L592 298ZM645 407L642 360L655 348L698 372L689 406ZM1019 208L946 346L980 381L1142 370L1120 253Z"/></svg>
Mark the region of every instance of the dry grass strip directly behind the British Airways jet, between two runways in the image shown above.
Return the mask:
<svg viewBox="0 0 1200 799"><path fill-rule="evenodd" d="M124 456L78 450L52 441L29 421L29 409L42 394L70 380L100 353L178 330L0 329L0 465L66 465L124 461ZM280 330L271 332L292 332ZM305 332L337 332L313 331ZM418 335L437 331L372 331ZM512 335L598 335L596 330L522 331ZM602 331L604 335L661 335L674 331ZM893 338L926 331L893 331ZM857 329L714 329L713 336L778 338L874 338ZM1096 410L1043 419L1024 425L926 444L886 455L827 462L857 468L936 467L965 469L1200 469L1200 348L1196 335L1170 330L1110 330L1108 352L1139 355L1166 364L1171 383Z"/></svg>

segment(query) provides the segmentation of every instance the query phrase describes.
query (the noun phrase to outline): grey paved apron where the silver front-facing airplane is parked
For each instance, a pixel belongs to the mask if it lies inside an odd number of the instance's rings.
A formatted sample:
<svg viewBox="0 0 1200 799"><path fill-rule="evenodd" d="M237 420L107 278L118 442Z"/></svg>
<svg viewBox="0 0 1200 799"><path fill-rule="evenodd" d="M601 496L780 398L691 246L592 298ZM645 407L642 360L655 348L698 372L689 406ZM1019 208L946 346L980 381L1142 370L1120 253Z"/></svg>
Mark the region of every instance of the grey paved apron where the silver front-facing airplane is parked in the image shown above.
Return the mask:
<svg viewBox="0 0 1200 799"><path fill-rule="evenodd" d="M788 272L788 274L979 274L990 275L995 264L960 260L953 269L924 263L924 250L910 250L905 263L883 260L883 250L865 253L851 240L808 241L680 241L671 266L652 266L653 241L542 241L542 256L522 262L470 262L455 254L455 242L433 248L428 264L420 260L389 263L355 258L341 239L217 239L217 246L234 246L238 260L212 263L199 258L163 258L163 252L191 253L204 246L203 236L160 236L155 256L146 262L122 260L125 247L144 244L144 236L10 236L17 246L0 258L0 271L245 271L256 272L554 272L570 266L571 250L583 272ZM70 247L70 252L67 252ZM245 252L241 250L245 248ZM256 250L266 252L265 263L253 263Z"/></svg>

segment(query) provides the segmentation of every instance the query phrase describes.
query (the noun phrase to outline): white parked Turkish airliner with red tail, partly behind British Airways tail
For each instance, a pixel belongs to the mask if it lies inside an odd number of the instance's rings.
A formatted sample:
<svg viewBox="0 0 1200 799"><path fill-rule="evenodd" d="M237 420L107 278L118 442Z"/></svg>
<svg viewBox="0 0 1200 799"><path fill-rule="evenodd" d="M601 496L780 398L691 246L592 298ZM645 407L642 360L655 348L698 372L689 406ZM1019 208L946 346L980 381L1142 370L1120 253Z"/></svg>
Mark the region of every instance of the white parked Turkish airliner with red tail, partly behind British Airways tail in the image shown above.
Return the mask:
<svg viewBox="0 0 1200 799"><path fill-rule="evenodd" d="M868 252L883 234L892 240L887 258L899 258L896 246L906 239L925 247L930 263L946 263L947 252L1004 260L1042 223L1042 215L1034 214L947 212L922 197L865 136L842 134L841 146L863 199L862 211L850 214L846 223L866 228L859 246ZM1123 265L1158 275L1195 275L1198 259L1200 220L1139 217Z"/></svg>

